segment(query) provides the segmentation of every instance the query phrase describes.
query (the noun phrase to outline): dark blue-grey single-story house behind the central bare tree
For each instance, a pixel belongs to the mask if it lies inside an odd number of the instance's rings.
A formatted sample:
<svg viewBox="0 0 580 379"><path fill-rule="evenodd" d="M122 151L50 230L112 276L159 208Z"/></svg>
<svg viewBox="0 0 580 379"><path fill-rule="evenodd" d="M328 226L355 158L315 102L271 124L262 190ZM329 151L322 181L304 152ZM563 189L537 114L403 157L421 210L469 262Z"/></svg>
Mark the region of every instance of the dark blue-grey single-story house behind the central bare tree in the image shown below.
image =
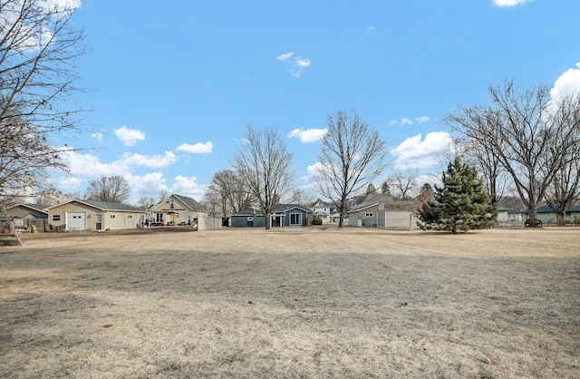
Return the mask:
<svg viewBox="0 0 580 379"><path fill-rule="evenodd" d="M275 207L270 215L270 226L304 227L312 225L314 215L312 209L306 209L297 204L281 204ZM234 228L266 228L266 218L256 210L243 210L230 216L230 226Z"/></svg>

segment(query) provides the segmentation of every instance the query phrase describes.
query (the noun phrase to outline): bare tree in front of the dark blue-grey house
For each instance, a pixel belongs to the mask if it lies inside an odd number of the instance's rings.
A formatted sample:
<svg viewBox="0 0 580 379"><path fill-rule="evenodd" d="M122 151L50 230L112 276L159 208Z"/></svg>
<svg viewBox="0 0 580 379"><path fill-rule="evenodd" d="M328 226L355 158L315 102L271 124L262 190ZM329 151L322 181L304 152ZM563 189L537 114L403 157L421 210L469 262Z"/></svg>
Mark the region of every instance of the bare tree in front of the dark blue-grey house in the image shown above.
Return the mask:
<svg viewBox="0 0 580 379"><path fill-rule="evenodd" d="M256 131L248 125L234 160L238 176L256 200L269 229L275 206L294 181L292 154L275 129Z"/></svg>

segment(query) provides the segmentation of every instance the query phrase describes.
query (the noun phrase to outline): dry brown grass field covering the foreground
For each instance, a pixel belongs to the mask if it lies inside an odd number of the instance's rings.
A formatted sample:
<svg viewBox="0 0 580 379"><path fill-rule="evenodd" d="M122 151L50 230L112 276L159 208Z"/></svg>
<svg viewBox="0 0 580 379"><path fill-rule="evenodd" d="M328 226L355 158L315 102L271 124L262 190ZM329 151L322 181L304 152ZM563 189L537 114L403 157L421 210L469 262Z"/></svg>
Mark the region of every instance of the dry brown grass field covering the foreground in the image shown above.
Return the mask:
<svg viewBox="0 0 580 379"><path fill-rule="evenodd" d="M578 378L580 229L22 235L2 378Z"/></svg>

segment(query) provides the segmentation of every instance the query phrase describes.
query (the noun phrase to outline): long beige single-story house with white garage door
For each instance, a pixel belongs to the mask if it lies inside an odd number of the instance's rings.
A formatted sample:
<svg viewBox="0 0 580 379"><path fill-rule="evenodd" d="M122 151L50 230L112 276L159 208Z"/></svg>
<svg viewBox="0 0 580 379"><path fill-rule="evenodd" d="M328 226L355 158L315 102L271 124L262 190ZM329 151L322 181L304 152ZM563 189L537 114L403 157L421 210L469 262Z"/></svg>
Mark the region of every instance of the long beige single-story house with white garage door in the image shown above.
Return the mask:
<svg viewBox="0 0 580 379"><path fill-rule="evenodd" d="M48 211L47 230L119 230L140 228L145 210L121 203L73 199L54 205Z"/></svg>

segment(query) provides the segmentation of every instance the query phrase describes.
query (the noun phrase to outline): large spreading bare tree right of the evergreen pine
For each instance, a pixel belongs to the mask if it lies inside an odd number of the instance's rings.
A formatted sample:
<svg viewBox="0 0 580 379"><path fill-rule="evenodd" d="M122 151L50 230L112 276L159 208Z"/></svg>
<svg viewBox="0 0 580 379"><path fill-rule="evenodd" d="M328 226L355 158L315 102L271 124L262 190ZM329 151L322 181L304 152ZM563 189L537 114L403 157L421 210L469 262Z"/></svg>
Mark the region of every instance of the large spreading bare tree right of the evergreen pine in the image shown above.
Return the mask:
<svg viewBox="0 0 580 379"><path fill-rule="evenodd" d="M520 92L507 81L490 86L489 93L492 105L459 107L444 121L498 158L534 220L566 151L578 143L578 125L554 116L557 106L550 102L546 85Z"/></svg>

